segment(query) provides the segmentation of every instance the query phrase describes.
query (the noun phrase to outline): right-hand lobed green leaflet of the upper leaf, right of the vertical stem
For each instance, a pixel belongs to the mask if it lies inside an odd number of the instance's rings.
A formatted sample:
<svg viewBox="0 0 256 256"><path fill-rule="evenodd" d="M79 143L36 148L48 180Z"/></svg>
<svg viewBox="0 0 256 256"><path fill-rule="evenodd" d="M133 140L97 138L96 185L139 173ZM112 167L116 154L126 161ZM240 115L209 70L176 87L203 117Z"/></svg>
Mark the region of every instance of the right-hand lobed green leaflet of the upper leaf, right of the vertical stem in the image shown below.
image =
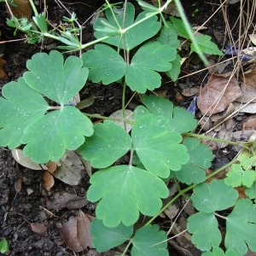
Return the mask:
<svg viewBox="0 0 256 256"><path fill-rule="evenodd" d="M126 84L131 90L137 90L139 93L160 87L161 76L155 71L170 70L172 68L170 61L174 61L175 58L176 49L169 45L161 45L159 42L144 44L137 50L130 65L126 67Z"/></svg>

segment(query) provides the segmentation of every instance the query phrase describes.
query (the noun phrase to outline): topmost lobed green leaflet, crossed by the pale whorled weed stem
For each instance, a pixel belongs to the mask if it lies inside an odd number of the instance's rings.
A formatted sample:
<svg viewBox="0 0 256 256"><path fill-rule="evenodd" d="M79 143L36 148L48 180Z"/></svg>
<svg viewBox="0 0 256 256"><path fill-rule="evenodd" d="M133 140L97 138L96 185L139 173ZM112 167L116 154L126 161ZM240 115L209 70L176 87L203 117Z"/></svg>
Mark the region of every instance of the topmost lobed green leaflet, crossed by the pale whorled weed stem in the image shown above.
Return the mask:
<svg viewBox="0 0 256 256"><path fill-rule="evenodd" d="M110 9L107 9L105 14L108 20L102 18L96 20L93 26L96 30L94 35L96 38L112 36L103 42L113 44L120 49L131 50L137 45L142 44L148 38L154 37L154 35L160 30L160 22L156 21L157 16L155 15L121 34L120 29L125 29L138 20L142 20L147 14L146 12L140 13L134 21L135 9L131 3L127 3L126 8L120 10L118 14L115 14L115 18L119 25L113 18L113 14Z"/></svg>

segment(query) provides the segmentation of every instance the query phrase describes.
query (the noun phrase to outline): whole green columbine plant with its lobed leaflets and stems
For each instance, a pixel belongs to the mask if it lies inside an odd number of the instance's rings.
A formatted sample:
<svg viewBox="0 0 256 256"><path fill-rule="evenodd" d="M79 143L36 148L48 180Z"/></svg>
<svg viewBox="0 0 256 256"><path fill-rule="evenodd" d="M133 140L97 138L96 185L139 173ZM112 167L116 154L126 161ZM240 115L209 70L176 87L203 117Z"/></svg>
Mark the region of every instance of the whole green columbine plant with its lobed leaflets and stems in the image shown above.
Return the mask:
<svg viewBox="0 0 256 256"><path fill-rule="evenodd" d="M188 230L192 242L205 252L203 255L243 255L247 247L256 251L256 210L251 201L256 191L255 145L243 145L251 150L244 149L246 153L239 159L241 165L233 165L226 179L206 183L208 177L236 160L206 176L204 170L211 166L212 151L201 143L202 136L189 133L197 125L191 113L174 107L166 99L148 95L143 97L143 105L135 109L133 119L126 117L126 87L139 93L159 88L159 72L177 79L181 59L177 53L177 33L190 37L190 31L186 34L180 26L183 23L174 18L164 21L160 30L157 15L162 17L162 9L138 3L145 11L137 18L131 3L117 14L111 7L107 9L106 19L94 24L96 41L85 46L102 43L84 52L81 58L70 56L64 61L61 53L54 50L49 55L33 55L27 61L28 71L23 77L2 90L0 145L17 148L24 144L23 153L37 163L59 160L66 149L78 149L84 160L100 169L90 178L87 193L90 201L98 202L90 227L98 252L129 241L123 255L130 248L131 255L168 255L166 232L152 222L192 189L194 194L190 198L198 212L189 217ZM152 39L158 32L159 37ZM47 32L43 34L47 36ZM209 38L196 40L191 50L198 51L199 45L207 53L221 55ZM85 48L82 44L66 43L67 49ZM99 115L82 113L70 104L88 78L102 84L123 80L122 118L101 117L106 120L93 125L88 117ZM45 98L54 103L49 105ZM132 125L131 132L113 121L121 121L124 127ZM125 154L129 155L129 163L113 166ZM234 181L235 176L239 176L239 183ZM188 186L178 187L178 194L163 207L161 199L169 195L164 181L170 179L177 186ZM238 200L233 187L240 184L247 186L250 199ZM234 208L229 215L221 215L220 211L230 207ZM140 214L152 218L134 230ZM218 218L226 222L223 237L218 230ZM225 254L220 248L221 241Z"/></svg>

